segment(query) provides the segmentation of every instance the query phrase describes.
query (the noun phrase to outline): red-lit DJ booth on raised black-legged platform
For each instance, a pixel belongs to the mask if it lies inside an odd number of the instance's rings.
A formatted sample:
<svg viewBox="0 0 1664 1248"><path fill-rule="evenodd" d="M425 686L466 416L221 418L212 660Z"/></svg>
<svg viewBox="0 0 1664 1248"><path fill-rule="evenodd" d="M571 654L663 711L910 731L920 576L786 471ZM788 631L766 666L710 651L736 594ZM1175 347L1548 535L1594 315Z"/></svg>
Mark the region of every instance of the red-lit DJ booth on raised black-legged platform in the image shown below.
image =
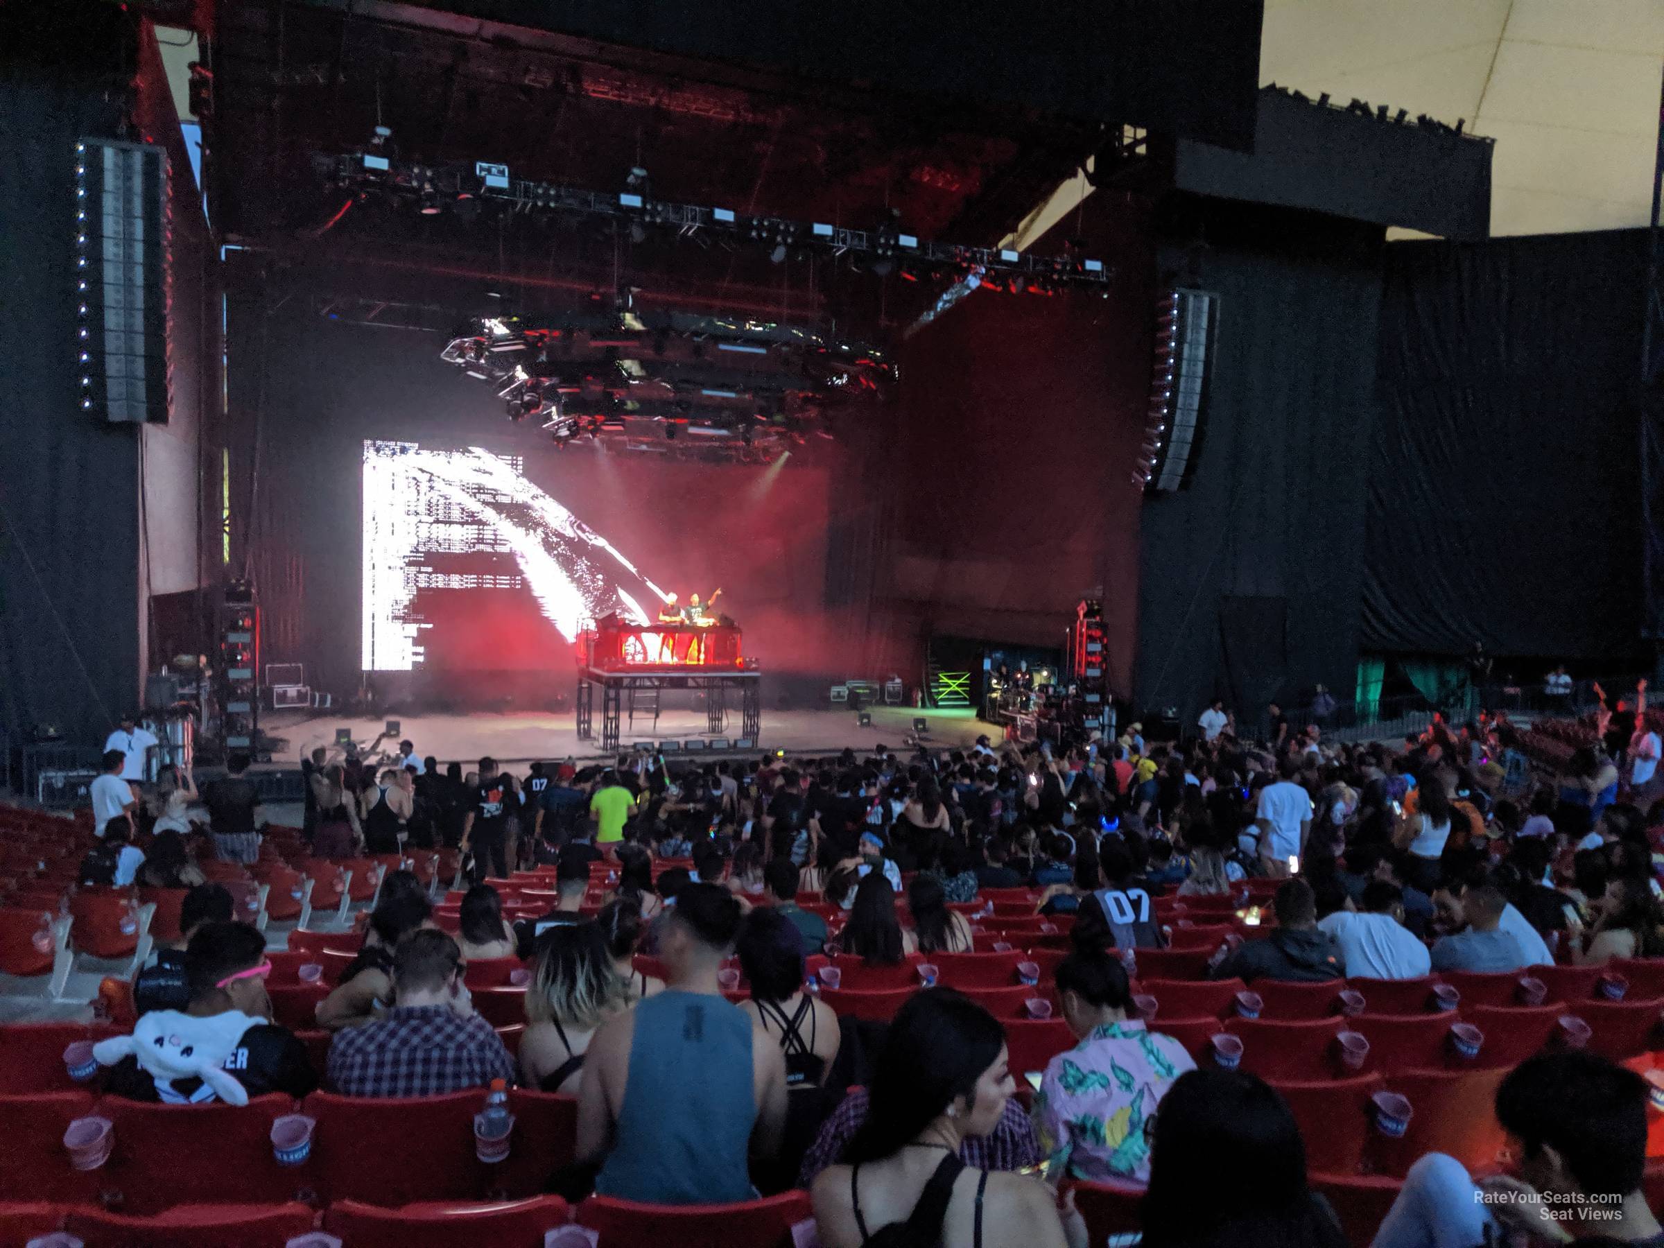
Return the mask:
<svg viewBox="0 0 1664 1248"><path fill-rule="evenodd" d="M757 740L762 729L762 674L745 659L740 629L726 616L709 624L632 624L607 616L577 637L577 737L596 740L599 692L599 744L619 747L624 704L631 722L639 706L659 717L659 694L692 689L706 696L706 730L727 730L729 694L737 694L742 739Z"/></svg>

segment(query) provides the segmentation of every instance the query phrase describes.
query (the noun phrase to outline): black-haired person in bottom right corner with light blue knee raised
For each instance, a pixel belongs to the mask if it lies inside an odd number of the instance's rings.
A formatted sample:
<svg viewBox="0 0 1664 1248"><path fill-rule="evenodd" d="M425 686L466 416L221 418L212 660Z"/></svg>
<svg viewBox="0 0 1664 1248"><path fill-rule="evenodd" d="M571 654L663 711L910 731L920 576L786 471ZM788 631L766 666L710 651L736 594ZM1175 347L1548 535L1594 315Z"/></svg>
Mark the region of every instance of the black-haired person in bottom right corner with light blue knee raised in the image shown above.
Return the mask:
<svg viewBox="0 0 1664 1248"><path fill-rule="evenodd" d="M1374 1248L1664 1245L1642 1188L1641 1075L1587 1052L1539 1053L1503 1080L1496 1118L1518 1145L1518 1178L1474 1181L1454 1156L1428 1153L1409 1168Z"/></svg>

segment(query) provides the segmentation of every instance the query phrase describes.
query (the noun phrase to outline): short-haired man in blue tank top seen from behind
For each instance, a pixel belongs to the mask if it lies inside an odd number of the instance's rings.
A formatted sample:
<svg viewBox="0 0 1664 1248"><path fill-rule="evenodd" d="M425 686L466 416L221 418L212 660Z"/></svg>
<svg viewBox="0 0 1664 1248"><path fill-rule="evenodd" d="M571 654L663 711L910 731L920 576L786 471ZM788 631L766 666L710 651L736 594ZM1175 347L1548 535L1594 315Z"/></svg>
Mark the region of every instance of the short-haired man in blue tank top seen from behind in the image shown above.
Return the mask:
<svg viewBox="0 0 1664 1248"><path fill-rule="evenodd" d="M785 1130L785 1057L717 987L742 912L716 884L676 894L659 937L669 987L594 1033L577 1092L577 1156L596 1191L657 1205L750 1200L749 1155Z"/></svg>

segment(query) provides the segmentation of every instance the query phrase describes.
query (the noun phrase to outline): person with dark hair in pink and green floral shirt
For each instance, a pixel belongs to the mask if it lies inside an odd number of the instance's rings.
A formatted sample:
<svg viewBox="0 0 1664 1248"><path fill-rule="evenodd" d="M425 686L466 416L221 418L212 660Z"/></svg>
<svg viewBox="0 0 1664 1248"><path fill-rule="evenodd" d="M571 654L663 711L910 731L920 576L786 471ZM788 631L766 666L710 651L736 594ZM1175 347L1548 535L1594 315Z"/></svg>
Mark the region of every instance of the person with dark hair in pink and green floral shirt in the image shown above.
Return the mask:
<svg viewBox="0 0 1664 1248"><path fill-rule="evenodd" d="M1178 1040L1127 1017L1132 987L1112 953L1070 953L1057 968L1057 990L1080 1043L1052 1058L1035 1095L1047 1178L1148 1183L1156 1105L1196 1063Z"/></svg>

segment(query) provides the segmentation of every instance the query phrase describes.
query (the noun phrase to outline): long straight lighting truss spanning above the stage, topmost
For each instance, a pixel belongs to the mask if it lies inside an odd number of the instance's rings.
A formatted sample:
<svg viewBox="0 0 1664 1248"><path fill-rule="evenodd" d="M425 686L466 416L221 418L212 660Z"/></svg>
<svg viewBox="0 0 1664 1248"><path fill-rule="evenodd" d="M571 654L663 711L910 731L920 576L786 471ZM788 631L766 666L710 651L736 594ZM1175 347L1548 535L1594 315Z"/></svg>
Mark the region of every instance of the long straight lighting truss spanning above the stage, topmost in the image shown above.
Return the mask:
<svg viewBox="0 0 1664 1248"><path fill-rule="evenodd" d="M914 271L950 276L978 273L983 280L1020 278L1052 286L1108 285L1113 270L1102 260L1080 255L1035 256L1000 246L934 243L897 226L849 230L829 221L794 221L784 216L755 216L732 208L656 200L641 190L597 191L551 181L513 178L506 165L418 165L378 151L314 155L314 168L329 183L358 191L379 191L413 205L496 201L516 213L564 213L632 221L674 230L687 238L699 233L750 241L774 251L779 246L830 256L890 260ZM644 188L642 188L644 190Z"/></svg>

